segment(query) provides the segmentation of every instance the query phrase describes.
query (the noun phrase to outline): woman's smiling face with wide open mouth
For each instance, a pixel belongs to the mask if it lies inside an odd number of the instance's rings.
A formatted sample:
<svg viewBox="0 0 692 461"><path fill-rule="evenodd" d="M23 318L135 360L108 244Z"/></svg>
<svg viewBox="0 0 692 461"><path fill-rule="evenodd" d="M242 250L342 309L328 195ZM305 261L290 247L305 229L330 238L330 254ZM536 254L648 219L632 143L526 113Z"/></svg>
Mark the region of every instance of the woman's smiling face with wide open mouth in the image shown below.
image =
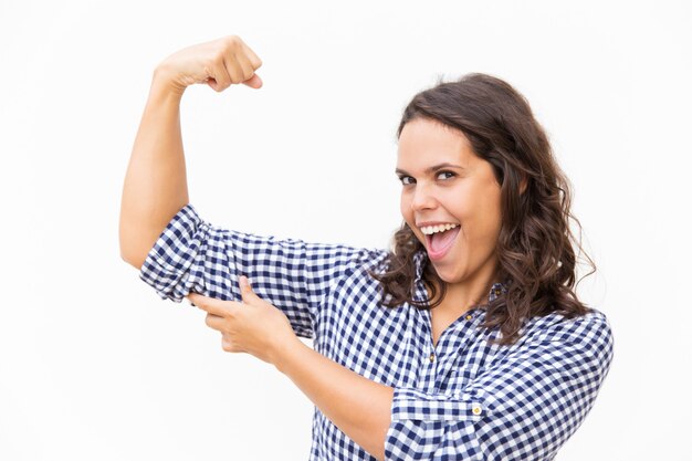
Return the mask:
<svg viewBox="0 0 692 461"><path fill-rule="evenodd" d="M500 185L459 130L430 119L399 136L401 214L450 284L486 283L496 269Z"/></svg>

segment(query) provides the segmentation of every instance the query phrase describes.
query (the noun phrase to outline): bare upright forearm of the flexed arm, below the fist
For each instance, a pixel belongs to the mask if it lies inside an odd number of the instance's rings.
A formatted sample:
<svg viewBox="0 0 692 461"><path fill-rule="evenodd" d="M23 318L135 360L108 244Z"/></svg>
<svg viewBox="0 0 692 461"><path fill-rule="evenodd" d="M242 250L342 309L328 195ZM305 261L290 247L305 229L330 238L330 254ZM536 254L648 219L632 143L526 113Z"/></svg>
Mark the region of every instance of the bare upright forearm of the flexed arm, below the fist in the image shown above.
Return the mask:
<svg viewBox="0 0 692 461"><path fill-rule="evenodd" d="M188 203L180 133L182 92L154 73L135 138L120 202L119 242L125 261L140 268L175 213Z"/></svg>

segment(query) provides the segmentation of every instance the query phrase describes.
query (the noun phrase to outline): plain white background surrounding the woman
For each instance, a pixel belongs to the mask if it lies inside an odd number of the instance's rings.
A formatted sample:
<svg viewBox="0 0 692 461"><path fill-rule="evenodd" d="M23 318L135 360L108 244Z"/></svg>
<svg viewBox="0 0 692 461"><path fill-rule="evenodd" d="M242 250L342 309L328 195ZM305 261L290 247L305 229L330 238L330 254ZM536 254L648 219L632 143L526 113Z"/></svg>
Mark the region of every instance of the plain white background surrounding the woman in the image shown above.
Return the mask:
<svg viewBox="0 0 692 461"><path fill-rule="evenodd" d="M557 459L690 459L691 19L682 0L2 0L0 459L307 459L312 402L119 258L151 72L231 33L264 87L186 93L190 198L260 234L388 245L408 101L466 72L520 90L598 266L578 293L616 338Z"/></svg>

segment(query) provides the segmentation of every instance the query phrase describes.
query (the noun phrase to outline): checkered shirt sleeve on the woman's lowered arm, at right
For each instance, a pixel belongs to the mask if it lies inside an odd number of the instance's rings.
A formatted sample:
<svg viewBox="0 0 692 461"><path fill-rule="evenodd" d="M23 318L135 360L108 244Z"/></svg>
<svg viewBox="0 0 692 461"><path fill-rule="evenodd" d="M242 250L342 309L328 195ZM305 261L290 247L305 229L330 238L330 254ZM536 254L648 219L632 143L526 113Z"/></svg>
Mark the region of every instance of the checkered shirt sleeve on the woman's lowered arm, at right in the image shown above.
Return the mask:
<svg viewBox="0 0 692 461"><path fill-rule="evenodd" d="M462 392L395 388L385 459L551 460L590 410L611 359L600 314L516 347Z"/></svg>

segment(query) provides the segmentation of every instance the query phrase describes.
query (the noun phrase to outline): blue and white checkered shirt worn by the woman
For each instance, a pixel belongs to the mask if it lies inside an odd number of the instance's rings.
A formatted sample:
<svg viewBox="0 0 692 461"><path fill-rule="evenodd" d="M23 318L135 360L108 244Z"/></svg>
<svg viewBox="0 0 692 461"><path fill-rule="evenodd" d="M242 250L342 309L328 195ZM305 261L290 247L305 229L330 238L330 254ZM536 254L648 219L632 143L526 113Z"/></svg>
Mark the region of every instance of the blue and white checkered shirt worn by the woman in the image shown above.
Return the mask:
<svg viewBox="0 0 692 461"><path fill-rule="evenodd" d="M296 335L357 374L395 389L386 460L552 460L579 427L612 358L605 315L530 319L512 346L489 343L476 307L433 346L430 312L381 305L385 250L277 240L221 229L192 206L168 223L140 277L162 298L190 291L240 301L238 275L280 308ZM415 255L416 301L424 252ZM492 301L504 286L495 284ZM375 460L317 408L311 461Z"/></svg>

